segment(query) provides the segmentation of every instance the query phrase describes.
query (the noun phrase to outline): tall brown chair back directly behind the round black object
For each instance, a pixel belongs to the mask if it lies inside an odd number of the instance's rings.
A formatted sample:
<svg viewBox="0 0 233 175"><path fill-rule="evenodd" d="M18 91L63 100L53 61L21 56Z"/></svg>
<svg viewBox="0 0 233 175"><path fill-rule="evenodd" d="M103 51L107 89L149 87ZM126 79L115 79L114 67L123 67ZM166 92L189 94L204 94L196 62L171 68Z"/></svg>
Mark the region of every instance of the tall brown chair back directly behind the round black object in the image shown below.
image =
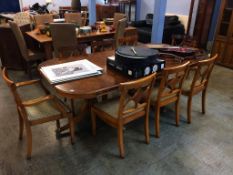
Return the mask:
<svg viewBox="0 0 233 175"><path fill-rule="evenodd" d="M127 19L126 18L123 18L123 19L118 21L115 36L114 36L116 48L119 46L119 39L124 37L126 26L127 26Z"/></svg>

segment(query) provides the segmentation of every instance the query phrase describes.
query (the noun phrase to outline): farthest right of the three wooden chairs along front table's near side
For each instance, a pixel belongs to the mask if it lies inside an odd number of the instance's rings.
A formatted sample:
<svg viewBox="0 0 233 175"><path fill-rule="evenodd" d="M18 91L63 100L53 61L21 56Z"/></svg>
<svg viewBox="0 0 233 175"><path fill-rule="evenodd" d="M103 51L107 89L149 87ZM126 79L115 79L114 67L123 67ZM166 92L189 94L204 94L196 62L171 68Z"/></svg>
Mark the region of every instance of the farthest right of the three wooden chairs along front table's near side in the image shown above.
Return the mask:
<svg viewBox="0 0 233 175"><path fill-rule="evenodd" d="M209 59L198 61L197 64L190 66L187 77L184 80L182 95L188 97L187 103L187 121L191 123L192 98L194 95L202 92L202 113L205 114L206 93L209 78L214 67L214 63L218 55Z"/></svg>

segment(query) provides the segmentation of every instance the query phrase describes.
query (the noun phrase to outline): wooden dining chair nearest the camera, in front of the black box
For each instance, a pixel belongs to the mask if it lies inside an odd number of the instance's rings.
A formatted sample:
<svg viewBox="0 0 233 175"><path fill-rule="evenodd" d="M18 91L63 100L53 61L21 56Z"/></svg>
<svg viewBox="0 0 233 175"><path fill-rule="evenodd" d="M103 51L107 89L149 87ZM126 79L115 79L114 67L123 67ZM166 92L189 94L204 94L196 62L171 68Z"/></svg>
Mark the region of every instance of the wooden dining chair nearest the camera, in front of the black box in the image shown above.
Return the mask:
<svg viewBox="0 0 233 175"><path fill-rule="evenodd" d="M91 107L92 132L96 135L96 117L108 125L117 128L120 157L125 157L123 126L138 118L144 117L146 143L149 143L149 107L150 94L155 74L121 83L120 98L93 104Z"/></svg>

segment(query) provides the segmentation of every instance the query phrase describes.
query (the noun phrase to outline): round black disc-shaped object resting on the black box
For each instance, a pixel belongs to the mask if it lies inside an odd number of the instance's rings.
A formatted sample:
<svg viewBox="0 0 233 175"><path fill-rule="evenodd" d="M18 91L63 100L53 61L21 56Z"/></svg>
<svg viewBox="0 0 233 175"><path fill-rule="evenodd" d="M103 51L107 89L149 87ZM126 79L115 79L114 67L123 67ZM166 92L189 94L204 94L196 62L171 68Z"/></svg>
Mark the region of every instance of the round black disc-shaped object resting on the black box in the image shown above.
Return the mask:
<svg viewBox="0 0 233 175"><path fill-rule="evenodd" d="M121 46L116 50L115 61L117 64L142 67L153 63L159 58L159 52L145 47Z"/></svg>

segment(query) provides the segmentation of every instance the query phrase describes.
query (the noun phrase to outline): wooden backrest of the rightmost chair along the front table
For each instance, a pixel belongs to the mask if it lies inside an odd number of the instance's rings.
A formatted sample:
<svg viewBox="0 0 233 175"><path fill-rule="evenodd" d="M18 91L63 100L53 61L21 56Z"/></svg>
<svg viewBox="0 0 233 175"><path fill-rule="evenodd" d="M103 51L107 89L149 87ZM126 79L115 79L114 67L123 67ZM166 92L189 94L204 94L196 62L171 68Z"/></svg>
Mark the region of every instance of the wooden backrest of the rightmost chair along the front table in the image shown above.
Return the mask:
<svg viewBox="0 0 233 175"><path fill-rule="evenodd" d="M198 61L197 64L190 67L190 71L195 72L190 89L194 94L207 87L217 57L218 55L216 54L209 59Z"/></svg>

